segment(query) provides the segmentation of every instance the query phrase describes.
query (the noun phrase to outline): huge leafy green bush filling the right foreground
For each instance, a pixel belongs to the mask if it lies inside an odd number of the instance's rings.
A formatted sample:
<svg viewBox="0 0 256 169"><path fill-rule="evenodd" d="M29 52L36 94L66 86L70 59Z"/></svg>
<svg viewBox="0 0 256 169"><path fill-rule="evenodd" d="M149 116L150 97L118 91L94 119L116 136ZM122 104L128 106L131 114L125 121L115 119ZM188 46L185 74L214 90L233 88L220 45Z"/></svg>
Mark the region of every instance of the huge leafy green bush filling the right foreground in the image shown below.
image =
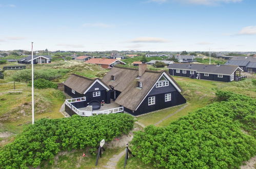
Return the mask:
<svg viewBox="0 0 256 169"><path fill-rule="evenodd" d="M148 126L136 132L134 155L155 167L238 168L256 154L256 102L230 92L218 95L227 101L210 104L166 128Z"/></svg>

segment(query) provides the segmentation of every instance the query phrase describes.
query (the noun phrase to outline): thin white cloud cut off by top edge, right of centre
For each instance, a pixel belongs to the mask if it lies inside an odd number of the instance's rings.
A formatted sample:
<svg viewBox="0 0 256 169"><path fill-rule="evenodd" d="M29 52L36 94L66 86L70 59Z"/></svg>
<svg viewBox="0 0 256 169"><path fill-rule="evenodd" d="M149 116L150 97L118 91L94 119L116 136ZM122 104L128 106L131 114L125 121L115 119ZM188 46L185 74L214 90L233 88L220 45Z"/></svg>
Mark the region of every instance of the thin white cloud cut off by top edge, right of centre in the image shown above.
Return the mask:
<svg viewBox="0 0 256 169"><path fill-rule="evenodd" d="M196 4L196 5L218 5L221 3L239 3L243 0L173 0L185 4Z"/></svg>

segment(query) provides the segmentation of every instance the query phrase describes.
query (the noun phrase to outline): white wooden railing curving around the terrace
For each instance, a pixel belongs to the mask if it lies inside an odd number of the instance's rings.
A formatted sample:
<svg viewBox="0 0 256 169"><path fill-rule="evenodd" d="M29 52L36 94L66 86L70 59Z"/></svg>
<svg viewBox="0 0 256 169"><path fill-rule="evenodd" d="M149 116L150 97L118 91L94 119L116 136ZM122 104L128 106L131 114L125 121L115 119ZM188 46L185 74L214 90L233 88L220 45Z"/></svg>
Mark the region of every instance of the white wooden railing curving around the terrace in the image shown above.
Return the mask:
<svg viewBox="0 0 256 169"><path fill-rule="evenodd" d="M77 101L74 101L77 100ZM71 103L73 102L80 102L80 101L86 101L85 97L80 97L80 98L74 98L74 99L67 99L65 101L65 104L76 114L80 116L94 116L94 115L100 115L100 114L110 114L110 113L120 113L124 111L124 107L119 107L119 108L113 108L113 109L108 109L108 110L103 110L99 112L90 112L90 111L82 111L78 110L76 107L74 107Z"/></svg>

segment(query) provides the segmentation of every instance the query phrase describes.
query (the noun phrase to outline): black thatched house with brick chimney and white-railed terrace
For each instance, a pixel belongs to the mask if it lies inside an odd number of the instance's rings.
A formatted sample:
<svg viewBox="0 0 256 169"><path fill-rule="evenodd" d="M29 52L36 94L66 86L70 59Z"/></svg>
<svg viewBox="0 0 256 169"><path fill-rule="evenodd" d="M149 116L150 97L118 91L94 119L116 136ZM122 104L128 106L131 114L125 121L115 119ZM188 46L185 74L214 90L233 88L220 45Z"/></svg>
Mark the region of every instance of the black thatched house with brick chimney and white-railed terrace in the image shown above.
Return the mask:
<svg viewBox="0 0 256 169"><path fill-rule="evenodd" d="M66 101L66 111L71 115L77 114L78 109L87 103L90 105L94 99L104 100L107 104L113 102L112 99L120 107L116 108L115 112L112 109L100 112L87 111L80 112L80 115L116 113L121 110L137 116L186 103L186 99L180 93L180 86L168 72L147 70L146 64L140 64L139 69L114 67L102 80L72 74L64 85L65 92L74 98ZM98 91L101 91L100 94L95 93ZM104 105L104 109L105 107L107 105Z"/></svg>

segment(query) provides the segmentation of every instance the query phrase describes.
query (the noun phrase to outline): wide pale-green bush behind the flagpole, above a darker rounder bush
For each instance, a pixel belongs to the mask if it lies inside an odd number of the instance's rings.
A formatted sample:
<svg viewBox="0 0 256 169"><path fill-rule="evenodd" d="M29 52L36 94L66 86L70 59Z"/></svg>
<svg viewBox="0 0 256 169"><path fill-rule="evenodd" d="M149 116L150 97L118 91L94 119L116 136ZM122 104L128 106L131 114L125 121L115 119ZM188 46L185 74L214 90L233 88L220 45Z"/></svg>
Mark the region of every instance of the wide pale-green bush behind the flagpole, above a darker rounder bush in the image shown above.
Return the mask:
<svg viewBox="0 0 256 169"><path fill-rule="evenodd" d="M68 73L68 69L44 69L34 70L34 79L46 79L53 80L62 77ZM31 80L31 69L23 69L15 72L12 75L14 81L30 81Z"/></svg>

